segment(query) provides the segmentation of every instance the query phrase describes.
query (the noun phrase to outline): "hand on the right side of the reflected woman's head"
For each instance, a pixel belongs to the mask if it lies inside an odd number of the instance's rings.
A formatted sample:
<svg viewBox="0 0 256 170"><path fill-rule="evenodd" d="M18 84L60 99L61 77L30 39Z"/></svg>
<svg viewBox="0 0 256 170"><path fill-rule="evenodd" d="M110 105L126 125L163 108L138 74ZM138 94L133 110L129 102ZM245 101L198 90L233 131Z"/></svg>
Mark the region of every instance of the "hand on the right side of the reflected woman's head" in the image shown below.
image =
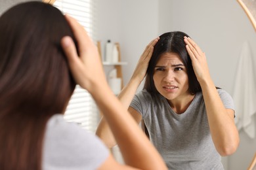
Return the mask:
<svg viewBox="0 0 256 170"><path fill-rule="evenodd" d="M186 50L192 61L192 66L196 74L198 82L207 81L211 78L207 65L205 53L202 52L200 47L190 37L184 37L186 43Z"/></svg>

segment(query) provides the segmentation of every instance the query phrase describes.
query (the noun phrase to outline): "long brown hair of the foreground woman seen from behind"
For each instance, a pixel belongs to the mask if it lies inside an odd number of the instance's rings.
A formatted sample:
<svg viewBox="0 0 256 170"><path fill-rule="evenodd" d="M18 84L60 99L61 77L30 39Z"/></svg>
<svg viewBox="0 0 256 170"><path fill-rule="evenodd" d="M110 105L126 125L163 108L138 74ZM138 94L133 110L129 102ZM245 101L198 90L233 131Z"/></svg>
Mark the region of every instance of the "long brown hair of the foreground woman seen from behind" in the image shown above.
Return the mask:
<svg viewBox="0 0 256 170"><path fill-rule="evenodd" d="M41 169L47 120L64 112L75 88L64 35L74 38L45 3L21 3L0 18L0 169Z"/></svg>

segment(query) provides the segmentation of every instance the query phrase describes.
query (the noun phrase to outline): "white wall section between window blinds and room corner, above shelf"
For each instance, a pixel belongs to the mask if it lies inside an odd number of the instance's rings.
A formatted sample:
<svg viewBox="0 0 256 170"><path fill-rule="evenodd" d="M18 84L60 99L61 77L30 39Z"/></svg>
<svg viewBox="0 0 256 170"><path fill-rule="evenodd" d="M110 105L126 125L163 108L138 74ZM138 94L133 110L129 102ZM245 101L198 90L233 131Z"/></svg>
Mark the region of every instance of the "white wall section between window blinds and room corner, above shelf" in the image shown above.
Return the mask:
<svg viewBox="0 0 256 170"><path fill-rule="evenodd" d="M98 40L104 44L107 39L119 42L123 66L123 79L126 84L135 69L144 48L158 37L158 1L146 0L96 0L98 19ZM105 67L106 68L106 67ZM106 68L106 73L110 68Z"/></svg>

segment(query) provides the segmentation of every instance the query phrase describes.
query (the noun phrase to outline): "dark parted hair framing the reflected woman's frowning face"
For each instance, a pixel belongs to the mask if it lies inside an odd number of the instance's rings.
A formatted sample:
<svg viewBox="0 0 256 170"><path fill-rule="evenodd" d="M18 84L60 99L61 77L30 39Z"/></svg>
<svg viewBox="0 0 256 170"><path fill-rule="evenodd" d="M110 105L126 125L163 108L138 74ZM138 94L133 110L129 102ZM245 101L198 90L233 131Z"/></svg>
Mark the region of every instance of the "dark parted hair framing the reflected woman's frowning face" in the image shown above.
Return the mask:
<svg viewBox="0 0 256 170"><path fill-rule="evenodd" d="M156 95L158 93L158 90L156 90L156 86L153 80L154 68L156 66L156 63L160 59L161 54L165 52L175 52L180 56L188 74L188 91L191 94L202 91L201 86L194 73L192 61L190 59L190 56L188 55L188 52L186 51L184 36L189 37L186 33L183 33L181 31L163 33L160 36L160 40L156 43L152 58L150 59L148 65L146 80L144 84L144 89L146 89L151 95Z"/></svg>

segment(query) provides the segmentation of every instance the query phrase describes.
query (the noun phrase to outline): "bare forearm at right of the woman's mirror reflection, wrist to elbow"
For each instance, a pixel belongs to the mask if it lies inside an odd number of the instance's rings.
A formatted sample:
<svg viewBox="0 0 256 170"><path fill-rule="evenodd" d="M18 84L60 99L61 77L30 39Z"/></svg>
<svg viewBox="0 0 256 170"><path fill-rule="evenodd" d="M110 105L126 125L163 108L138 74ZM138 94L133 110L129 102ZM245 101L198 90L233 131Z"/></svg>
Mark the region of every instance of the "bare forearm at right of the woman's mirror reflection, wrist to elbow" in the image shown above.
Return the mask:
<svg viewBox="0 0 256 170"><path fill-rule="evenodd" d="M227 112L211 80L201 84L213 143L222 156L232 154L239 143L232 111Z"/></svg>

